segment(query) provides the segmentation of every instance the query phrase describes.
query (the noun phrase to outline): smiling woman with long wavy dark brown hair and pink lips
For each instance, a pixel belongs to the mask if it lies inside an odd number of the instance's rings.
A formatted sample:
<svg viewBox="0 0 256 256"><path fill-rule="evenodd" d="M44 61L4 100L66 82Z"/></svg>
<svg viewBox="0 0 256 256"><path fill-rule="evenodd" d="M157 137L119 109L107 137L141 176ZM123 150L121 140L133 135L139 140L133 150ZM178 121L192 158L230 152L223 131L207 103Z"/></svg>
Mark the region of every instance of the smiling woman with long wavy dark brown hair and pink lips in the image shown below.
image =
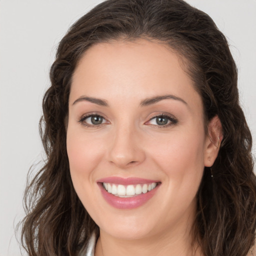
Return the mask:
<svg viewBox="0 0 256 256"><path fill-rule="evenodd" d="M251 135L207 14L181 0L104 1L60 41L50 78L47 161L26 190L29 255L253 253Z"/></svg>

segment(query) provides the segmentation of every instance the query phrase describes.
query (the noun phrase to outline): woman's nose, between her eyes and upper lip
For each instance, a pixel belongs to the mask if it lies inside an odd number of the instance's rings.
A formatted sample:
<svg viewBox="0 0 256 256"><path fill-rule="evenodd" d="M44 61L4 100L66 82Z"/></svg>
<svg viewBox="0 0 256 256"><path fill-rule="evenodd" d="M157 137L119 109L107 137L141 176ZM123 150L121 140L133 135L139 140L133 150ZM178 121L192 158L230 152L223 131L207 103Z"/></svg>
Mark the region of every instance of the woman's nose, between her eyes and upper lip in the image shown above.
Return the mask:
<svg viewBox="0 0 256 256"><path fill-rule="evenodd" d="M145 159L140 136L134 128L119 125L113 133L108 152L109 162L125 169L137 165Z"/></svg>

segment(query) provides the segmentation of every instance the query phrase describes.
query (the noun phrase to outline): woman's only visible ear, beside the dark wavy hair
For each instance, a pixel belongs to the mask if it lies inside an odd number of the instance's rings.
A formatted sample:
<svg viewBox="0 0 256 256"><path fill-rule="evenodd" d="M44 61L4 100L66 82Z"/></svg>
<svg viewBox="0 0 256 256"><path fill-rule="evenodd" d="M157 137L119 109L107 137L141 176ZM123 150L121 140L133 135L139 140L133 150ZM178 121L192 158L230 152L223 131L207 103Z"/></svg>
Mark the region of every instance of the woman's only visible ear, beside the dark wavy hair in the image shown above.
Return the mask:
<svg viewBox="0 0 256 256"><path fill-rule="evenodd" d="M204 166L210 167L219 151L221 140L223 139L222 125L217 115L208 123L208 132L205 139Z"/></svg>

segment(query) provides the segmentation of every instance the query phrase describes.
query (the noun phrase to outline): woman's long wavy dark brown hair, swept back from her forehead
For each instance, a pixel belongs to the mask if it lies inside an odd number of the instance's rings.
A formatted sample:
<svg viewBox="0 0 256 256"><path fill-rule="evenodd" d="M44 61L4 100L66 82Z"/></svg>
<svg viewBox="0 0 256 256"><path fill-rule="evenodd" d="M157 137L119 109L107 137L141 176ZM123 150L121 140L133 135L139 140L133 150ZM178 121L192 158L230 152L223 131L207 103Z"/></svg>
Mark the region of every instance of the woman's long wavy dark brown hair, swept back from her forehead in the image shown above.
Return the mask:
<svg viewBox="0 0 256 256"><path fill-rule="evenodd" d="M251 134L239 105L237 71L224 35L182 0L107 0L77 20L60 41L43 97L40 134L46 161L27 185L22 244L28 255L76 255L97 225L77 197L66 153L72 74L88 47L148 38L168 45L201 95L205 124L218 115L223 140L197 193L194 237L205 255L245 256L254 243L256 180Z"/></svg>

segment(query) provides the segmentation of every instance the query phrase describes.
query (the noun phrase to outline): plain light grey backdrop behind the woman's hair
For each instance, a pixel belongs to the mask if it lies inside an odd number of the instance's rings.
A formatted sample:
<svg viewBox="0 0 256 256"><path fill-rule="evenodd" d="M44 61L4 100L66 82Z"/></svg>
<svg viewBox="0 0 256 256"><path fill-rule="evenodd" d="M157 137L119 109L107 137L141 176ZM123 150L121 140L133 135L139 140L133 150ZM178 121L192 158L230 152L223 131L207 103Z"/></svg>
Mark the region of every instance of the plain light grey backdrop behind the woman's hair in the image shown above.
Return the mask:
<svg viewBox="0 0 256 256"><path fill-rule="evenodd" d="M24 215L27 171L43 155L38 120L56 45L99 2L0 0L0 256L21 254L14 226ZM255 141L256 0L187 2L208 13L229 40L239 71L240 101Z"/></svg>

